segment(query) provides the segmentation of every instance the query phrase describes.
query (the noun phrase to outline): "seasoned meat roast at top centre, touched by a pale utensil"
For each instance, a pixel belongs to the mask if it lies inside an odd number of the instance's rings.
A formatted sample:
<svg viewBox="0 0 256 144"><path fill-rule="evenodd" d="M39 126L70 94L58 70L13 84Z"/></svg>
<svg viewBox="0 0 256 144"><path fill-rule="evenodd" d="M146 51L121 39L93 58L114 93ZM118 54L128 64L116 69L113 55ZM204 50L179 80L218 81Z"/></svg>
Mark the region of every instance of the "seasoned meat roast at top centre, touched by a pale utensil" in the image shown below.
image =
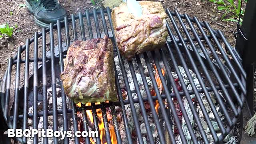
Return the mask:
<svg viewBox="0 0 256 144"><path fill-rule="evenodd" d="M118 49L128 59L161 48L166 42L166 13L160 2L140 1L142 16L128 12L125 3L112 10Z"/></svg>

